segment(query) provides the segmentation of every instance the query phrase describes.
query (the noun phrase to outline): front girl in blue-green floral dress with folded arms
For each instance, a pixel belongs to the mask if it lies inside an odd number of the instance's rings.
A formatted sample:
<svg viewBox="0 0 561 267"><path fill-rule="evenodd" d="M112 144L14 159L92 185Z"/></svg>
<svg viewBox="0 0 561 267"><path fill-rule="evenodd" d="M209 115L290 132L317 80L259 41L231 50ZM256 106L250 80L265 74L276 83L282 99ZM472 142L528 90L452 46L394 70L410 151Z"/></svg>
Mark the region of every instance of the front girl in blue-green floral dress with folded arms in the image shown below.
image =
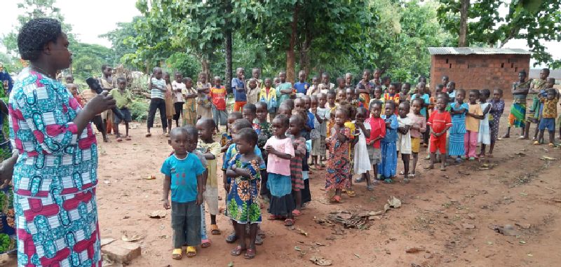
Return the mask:
<svg viewBox="0 0 561 267"><path fill-rule="evenodd" d="M227 197L227 214L230 217L238 246L230 254L239 256L245 250L245 259L255 258L255 239L257 226L261 223L259 208L259 184L261 179L260 166L263 158L255 153L257 133L251 128L243 128L235 135L236 153L228 163L227 176L231 178L231 190ZM245 245L245 226L250 224L250 244Z"/></svg>

